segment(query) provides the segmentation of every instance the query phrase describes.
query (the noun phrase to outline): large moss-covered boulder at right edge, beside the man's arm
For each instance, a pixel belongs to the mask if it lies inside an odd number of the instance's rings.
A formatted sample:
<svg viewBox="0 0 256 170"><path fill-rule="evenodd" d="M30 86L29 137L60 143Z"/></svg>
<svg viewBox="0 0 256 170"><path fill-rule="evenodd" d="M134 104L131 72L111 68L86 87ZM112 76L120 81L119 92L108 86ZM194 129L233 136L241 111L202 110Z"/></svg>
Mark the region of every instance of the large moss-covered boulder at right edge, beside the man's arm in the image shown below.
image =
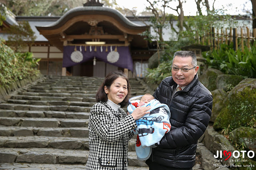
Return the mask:
<svg viewBox="0 0 256 170"><path fill-rule="evenodd" d="M251 80L249 80L251 81ZM225 99L224 107L214 122L214 129L248 126L256 118L256 84L239 83Z"/></svg>

